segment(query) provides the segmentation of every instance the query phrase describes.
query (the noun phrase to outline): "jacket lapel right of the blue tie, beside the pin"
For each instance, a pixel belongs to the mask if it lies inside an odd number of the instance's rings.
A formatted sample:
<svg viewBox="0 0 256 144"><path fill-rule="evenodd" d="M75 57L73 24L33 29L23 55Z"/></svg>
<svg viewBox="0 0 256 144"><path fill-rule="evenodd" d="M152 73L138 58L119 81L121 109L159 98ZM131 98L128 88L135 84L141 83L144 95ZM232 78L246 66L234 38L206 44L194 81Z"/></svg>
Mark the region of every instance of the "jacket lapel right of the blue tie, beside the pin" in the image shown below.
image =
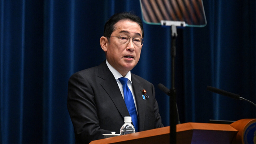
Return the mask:
<svg viewBox="0 0 256 144"><path fill-rule="evenodd" d="M143 100L142 98L143 87L140 86L139 80L136 79L133 74L131 75L131 80L133 82L133 90L134 90L134 95L136 99L137 111L138 111L139 131L143 131L147 100Z"/></svg>

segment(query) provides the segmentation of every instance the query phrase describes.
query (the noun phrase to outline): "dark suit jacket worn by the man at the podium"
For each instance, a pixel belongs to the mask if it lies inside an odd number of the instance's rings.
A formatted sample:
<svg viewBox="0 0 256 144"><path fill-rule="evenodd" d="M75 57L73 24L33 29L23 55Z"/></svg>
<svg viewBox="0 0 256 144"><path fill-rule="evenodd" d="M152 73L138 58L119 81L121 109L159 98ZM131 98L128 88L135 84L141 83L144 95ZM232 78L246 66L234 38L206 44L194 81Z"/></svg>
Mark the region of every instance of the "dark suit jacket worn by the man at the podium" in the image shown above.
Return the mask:
<svg viewBox="0 0 256 144"><path fill-rule="evenodd" d="M155 88L147 80L131 74L139 131L163 127L155 99ZM149 98L142 98L145 89ZM106 62L79 71L69 79L68 111L74 126L76 143L103 139L102 134L120 133L124 117L130 116L125 101Z"/></svg>

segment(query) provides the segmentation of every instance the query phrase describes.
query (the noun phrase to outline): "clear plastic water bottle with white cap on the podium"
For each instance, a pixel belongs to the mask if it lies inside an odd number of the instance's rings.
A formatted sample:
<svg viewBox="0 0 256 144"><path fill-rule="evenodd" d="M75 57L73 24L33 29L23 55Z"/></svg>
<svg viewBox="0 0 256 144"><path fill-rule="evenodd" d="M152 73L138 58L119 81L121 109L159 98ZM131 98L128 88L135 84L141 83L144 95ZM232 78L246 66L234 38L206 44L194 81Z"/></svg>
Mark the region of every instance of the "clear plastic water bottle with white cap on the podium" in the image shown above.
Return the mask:
<svg viewBox="0 0 256 144"><path fill-rule="evenodd" d="M135 128L131 124L131 117L125 117L125 124L120 128L120 135L135 133Z"/></svg>

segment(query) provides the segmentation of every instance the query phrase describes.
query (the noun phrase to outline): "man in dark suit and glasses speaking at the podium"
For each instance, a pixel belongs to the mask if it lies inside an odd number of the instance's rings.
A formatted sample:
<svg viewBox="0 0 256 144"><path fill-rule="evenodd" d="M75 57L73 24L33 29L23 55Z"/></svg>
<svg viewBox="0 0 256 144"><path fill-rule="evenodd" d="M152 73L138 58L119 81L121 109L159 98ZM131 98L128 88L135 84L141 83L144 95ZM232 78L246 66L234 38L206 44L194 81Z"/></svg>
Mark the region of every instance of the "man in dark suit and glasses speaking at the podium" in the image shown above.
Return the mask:
<svg viewBox="0 0 256 144"><path fill-rule="evenodd" d="M100 38L107 60L70 77L67 105L76 143L103 139L102 134L112 131L119 134L124 117L130 116L127 105L131 103L135 105L132 117L138 121L133 120L136 132L163 127L153 84L130 72L139 61L143 36L138 16L114 14L105 23L104 36ZM127 85L134 102L125 102L121 77L129 79Z"/></svg>

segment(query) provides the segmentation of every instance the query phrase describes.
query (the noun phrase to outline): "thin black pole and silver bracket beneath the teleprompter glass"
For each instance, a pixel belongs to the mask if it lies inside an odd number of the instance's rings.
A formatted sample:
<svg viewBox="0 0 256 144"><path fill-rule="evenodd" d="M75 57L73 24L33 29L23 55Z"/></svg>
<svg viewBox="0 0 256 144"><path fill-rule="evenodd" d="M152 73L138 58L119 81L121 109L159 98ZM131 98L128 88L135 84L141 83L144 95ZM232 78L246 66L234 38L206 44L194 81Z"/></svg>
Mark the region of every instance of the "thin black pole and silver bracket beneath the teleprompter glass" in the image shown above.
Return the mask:
<svg viewBox="0 0 256 144"><path fill-rule="evenodd" d="M172 56L172 88L170 89L170 144L176 144L176 124L177 124L177 111L176 106L176 89L175 89L175 57L176 57L176 38L177 28L176 26L185 26L185 22L179 21L161 21L162 26L171 26L172 31L172 44L171 44L171 56Z"/></svg>

